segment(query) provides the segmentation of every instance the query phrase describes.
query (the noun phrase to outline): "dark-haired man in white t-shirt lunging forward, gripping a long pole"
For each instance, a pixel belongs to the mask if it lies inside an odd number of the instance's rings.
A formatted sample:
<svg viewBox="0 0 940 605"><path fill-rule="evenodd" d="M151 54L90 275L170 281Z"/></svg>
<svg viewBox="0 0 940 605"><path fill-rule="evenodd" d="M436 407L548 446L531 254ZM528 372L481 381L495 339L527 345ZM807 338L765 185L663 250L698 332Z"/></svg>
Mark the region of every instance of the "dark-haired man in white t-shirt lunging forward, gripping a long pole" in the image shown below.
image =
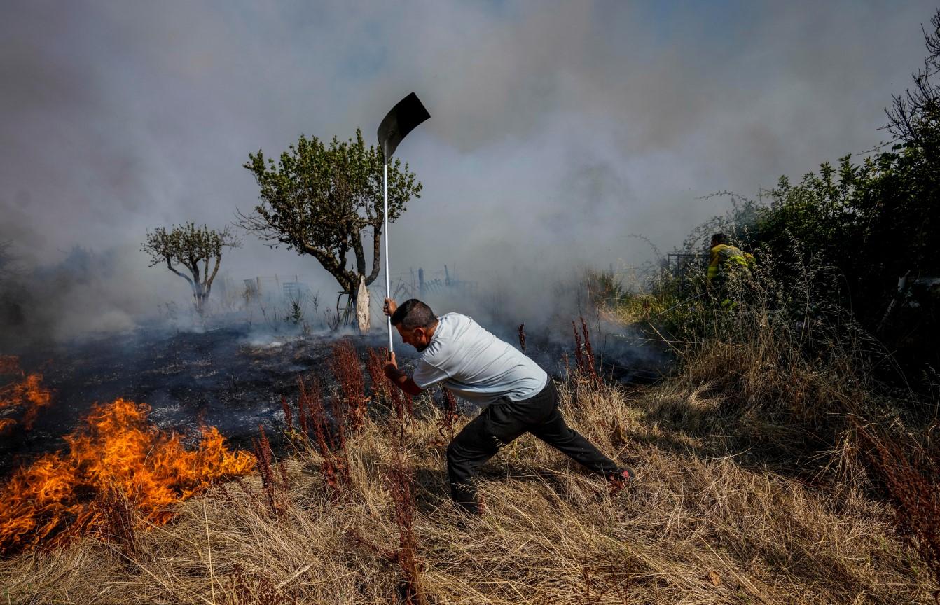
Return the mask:
<svg viewBox="0 0 940 605"><path fill-rule="evenodd" d="M400 306L385 299L384 312L401 340L423 353L411 378L392 353L384 367L389 380L413 396L443 383L455 395L484 406L447 445L450 496L456 504L479 513L474 485L479 467L525 432L603 475L613 489L633 480L630 468L618 466L565 424L555 382L518 349L460 313L435 317L431 307L417 299Z"/></svg>

